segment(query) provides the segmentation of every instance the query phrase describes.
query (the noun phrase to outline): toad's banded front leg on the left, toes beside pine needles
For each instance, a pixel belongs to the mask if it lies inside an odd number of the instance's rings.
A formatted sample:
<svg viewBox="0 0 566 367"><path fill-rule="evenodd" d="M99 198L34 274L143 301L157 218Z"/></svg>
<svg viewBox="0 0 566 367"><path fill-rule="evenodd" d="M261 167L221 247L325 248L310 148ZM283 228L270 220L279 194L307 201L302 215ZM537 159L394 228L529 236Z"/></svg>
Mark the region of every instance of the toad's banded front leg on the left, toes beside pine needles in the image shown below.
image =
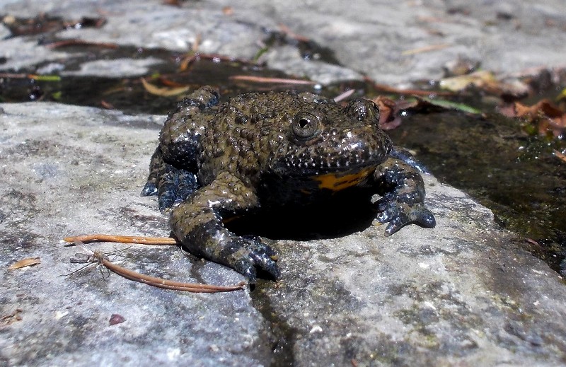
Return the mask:
<svg viewBox="0 0 566 367"><path fill-rule="evenodd" d="M238 214L258 206L258 198L230 173L221 173L209 185L171 213L171 228L192 254L231 267L255 282L256 267L275 279L279 269L275 251L256 238L240 237L224 228L223 214Z"/></svg>

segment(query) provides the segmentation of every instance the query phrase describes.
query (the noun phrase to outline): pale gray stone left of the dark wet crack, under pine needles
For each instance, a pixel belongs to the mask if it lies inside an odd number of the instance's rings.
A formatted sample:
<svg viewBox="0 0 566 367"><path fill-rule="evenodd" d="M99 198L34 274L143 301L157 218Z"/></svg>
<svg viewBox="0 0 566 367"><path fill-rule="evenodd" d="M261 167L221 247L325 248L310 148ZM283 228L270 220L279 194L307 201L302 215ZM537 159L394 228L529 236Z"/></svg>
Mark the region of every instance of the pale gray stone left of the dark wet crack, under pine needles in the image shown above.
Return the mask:
<svg viewBox="0 0 566 367"><path fill-rule="evenodd" d="M248 291L164 292L94 267L65 275L81 267L69 263L81 249L65 247L65 235L168 235L154 200L139 196L162 117L57 104L1 107L1 316L21 309L23 320L1 325L0 364L254 366L268 360L265 322ZM118 264L166 278L242 280L175 247L89 247L121 249ZM25 257L42 263L7 270ZM126 321L110 326L112 314Z"/></svg>

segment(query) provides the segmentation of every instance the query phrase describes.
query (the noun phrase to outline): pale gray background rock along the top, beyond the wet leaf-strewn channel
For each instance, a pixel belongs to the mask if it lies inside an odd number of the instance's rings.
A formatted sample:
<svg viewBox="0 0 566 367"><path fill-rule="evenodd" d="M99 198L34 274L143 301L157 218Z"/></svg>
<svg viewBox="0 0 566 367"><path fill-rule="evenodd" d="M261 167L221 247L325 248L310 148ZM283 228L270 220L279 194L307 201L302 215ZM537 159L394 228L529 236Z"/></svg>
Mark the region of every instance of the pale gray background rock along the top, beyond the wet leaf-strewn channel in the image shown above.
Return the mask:
<svg viewBox="0 0 566 367"><path fill-rule="evenodd" d="M231 14L224 13L229 6ZM344 67L327 62L297 62L273 47L267 65L318 83L366 74L380 83L407 86L437 79L442 66L458 57L481 62L499 73L538 66L565 67L558 49L566 44L562 0L541 1L187 1L182 7L158 1L0 1L0 13L64 18L103 16L100 29L62 30L62 38L115 42L137 47L188 51L202 35L200 51L252 59L266 30L291 31L329 47ZM32 47L30 49L30 47ZM432 47L432 48L431 48ZM285 48L285 46L283 46ZM16 52L17 50L17 52ZM62 53L62 52L61 52ZM25 40L0 40L2 69L21 69L61 53ZM281 58L277 55L282 54ZM57 56L59 55L59 56ZM344 69L350 69L345 72Z"/></svg>

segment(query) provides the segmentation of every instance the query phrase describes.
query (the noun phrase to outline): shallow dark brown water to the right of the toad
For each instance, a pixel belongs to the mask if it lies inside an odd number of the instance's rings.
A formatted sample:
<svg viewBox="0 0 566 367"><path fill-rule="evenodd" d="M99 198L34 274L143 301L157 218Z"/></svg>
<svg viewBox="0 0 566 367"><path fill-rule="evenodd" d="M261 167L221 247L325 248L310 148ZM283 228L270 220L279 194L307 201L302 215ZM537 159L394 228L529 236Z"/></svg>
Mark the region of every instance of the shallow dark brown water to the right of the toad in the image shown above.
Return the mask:
<svg viewBox="0 0 566 367"><path fill-rule="evenodd" d="M529 136L501 115L441 112L413 115L388 132L415 153L441 182L492 209L504 228L564 274L566 163L553 155L565 141ZM533 241L530 241L533 240Z"/></svg>

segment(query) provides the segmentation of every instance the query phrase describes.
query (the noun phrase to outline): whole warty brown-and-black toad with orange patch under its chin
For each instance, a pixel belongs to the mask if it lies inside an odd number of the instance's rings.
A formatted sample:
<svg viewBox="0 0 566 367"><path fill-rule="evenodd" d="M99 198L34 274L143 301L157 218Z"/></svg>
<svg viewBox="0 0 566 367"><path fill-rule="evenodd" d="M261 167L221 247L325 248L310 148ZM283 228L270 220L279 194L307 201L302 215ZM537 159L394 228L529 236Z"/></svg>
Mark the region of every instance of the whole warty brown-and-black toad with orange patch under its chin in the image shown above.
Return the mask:
<svg viewBox="0 0 566 367"><path fill-rule="evenodd" d="M408 223L435 226L422 177L405 158L392 157L378 122L369 100L340 107L311 93L272 92L219 105L218 93L203 87L168 117L142 194L158 194L161 211L171 209L173 233L190 252L251 282L256 267L277 279L275 252L231 233L223 219L369 187L382 196L376 221L389 222L386 235Z"/></svg>

